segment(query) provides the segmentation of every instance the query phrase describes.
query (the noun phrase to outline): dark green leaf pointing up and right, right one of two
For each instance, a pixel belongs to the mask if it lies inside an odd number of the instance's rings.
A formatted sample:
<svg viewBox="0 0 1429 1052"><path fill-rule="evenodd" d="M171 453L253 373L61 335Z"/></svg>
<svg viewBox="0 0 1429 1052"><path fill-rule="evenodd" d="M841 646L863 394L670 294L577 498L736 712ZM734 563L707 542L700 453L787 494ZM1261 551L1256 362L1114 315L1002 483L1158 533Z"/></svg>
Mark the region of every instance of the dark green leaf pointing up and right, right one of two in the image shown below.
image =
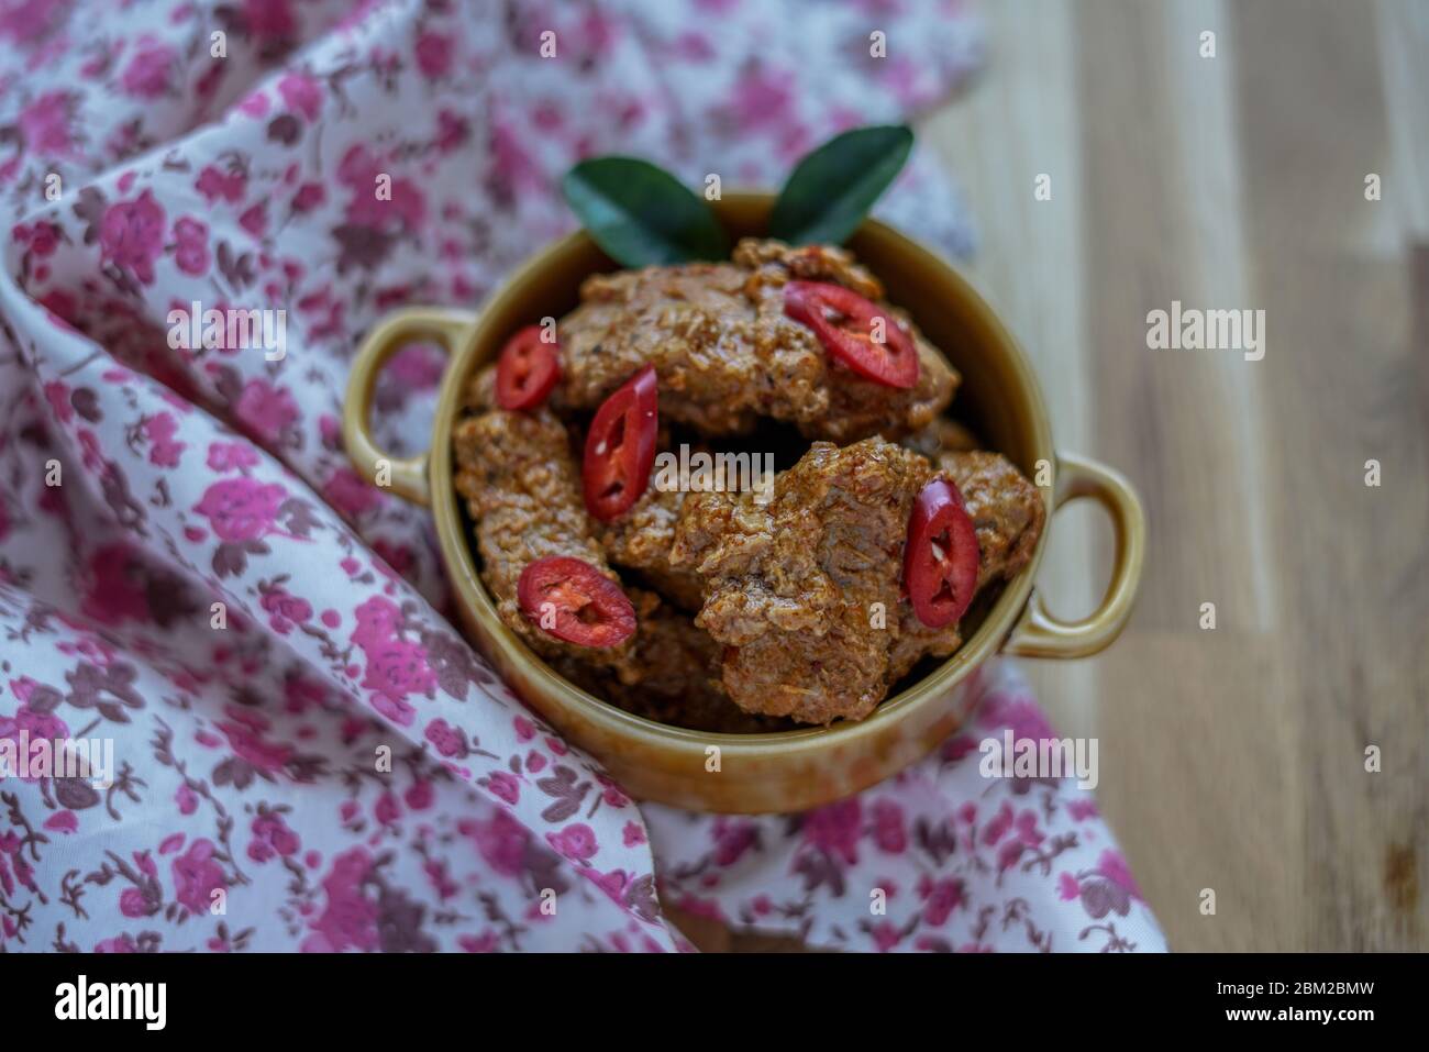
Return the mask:
<svg viewBox="0 0 1429 1052"><path fill-rule="evenodd" d="M839 244L903 170L913 149L906 124L856 127L795 167L769 217L769 234L790 244Z"/></svg>

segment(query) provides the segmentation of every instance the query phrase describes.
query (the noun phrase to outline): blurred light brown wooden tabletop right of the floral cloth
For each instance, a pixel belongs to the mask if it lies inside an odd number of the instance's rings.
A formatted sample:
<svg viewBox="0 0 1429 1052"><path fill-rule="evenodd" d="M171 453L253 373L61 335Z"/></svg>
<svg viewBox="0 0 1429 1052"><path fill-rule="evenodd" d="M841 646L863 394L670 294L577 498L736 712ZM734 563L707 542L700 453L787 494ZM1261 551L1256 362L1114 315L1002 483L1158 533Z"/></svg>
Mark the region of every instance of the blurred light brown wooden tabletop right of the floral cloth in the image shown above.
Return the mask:
<svg viewBox="0 0 1429 1052"><path fill-rule="evenodd" d="M1426 949L1429 0L980 10L987 70L920 130L1057 443L1126 472L1150 525L1120 642L1023 668L1063 735L1100 739L1102 810L1172 949ZM1147 350L1172 300L1263 309L1265 359ZM1057 516L1053 609L1090 609L1105 533Z"/></svg>

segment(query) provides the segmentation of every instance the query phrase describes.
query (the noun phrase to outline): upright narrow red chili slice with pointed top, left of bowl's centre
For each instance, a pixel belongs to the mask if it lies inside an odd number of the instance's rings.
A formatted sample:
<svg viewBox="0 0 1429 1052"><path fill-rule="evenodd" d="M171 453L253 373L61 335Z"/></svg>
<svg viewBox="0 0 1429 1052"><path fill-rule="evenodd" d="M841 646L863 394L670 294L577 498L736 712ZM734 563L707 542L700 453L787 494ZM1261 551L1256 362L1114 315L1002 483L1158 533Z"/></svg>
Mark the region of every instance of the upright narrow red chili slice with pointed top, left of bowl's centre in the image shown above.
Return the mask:
<svg viewBox="0 0 1429 1052"><path fill-rule="evenodd" d="M650 485L654 433L660 423L660 392L654 366L646 366L600 403L586 435L580 477L586 510L610 522Z"/></svg>

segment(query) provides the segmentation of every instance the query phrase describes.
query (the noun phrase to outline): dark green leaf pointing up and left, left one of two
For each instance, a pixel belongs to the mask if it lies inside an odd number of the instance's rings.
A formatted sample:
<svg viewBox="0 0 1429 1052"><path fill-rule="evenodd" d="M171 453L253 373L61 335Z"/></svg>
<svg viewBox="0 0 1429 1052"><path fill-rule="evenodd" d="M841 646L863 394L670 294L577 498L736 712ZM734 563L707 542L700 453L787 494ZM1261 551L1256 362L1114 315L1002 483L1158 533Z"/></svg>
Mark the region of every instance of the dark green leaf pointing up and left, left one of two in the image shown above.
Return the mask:
<svg viewBox="0 0 1429 1052"><path fill-rule="evenodd" d="M572 212L627 267L727 259L729 237L702 197L634 157L592 157L562 180Z"/></svg>

